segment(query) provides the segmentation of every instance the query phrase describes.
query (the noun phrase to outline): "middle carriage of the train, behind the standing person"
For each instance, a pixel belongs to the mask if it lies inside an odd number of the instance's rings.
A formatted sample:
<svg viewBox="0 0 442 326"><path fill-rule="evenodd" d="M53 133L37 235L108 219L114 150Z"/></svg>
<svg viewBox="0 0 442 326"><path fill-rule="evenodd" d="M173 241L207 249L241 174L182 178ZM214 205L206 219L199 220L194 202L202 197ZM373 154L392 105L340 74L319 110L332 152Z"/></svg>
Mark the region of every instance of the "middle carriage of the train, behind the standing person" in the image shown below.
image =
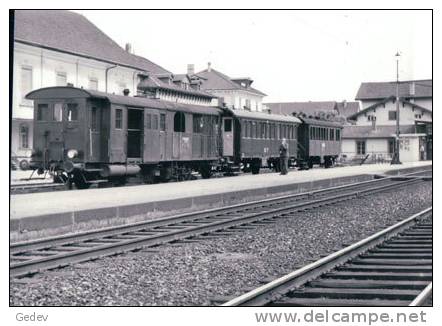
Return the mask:
<svg viewBox="0 0 442 326"><path fill-rule="evenodd" d="M279 171L279 146L283 138L289 147L289 162L296 163L298 128L301 121L283 116L246 110L225 109L222 118L224 167L258 174L262 167Z"/></svg>

